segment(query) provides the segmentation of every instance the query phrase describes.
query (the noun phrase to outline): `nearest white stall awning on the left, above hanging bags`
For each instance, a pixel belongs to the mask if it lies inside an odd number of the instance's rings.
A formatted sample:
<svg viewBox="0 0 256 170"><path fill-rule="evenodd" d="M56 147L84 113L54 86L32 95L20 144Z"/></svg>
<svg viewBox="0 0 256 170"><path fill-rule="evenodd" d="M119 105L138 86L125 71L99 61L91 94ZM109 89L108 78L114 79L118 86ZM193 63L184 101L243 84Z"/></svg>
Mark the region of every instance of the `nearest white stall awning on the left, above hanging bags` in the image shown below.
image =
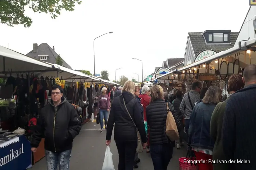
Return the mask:
<svg viewBox="0 0 256 170"><path fill-rule="evenodd" d="M22 72L37 72L39 70L53 70L52 65L30 58L24 54L0 46L0 76ZM15 75L14 75L15 73ZM9 75L6 75L7 77Z"/></svg>

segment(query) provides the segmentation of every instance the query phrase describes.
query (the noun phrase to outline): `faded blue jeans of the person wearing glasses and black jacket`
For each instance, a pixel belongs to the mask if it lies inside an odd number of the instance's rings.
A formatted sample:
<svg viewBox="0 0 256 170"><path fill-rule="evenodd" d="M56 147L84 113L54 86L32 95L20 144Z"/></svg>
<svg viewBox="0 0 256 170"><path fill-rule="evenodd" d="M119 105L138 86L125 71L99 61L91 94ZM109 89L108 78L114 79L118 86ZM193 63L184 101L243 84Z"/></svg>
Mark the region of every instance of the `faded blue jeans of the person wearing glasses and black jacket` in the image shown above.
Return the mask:
<svg viewBox="0 0 256 170"><path fill-rule="evenodd" d="M47 170L69 170L69 159L71 150L55 153L45 150L45 158L47 161Z"/></svg>

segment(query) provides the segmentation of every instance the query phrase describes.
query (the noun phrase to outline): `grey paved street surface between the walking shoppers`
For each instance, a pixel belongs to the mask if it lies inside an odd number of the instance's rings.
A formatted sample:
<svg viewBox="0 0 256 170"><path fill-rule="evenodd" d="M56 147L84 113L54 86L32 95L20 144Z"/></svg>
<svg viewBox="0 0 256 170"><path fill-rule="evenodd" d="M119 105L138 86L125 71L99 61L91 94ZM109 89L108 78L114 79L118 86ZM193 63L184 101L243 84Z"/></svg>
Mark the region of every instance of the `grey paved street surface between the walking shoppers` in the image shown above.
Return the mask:
<svg viewBox="0 0 256 170"><path fill-rule="evenodd" d="M96 122L88 122L82 126L82 130L74 139L73 149L70 158L70 170L101 170L106 150L106 132L100 133L100 125ZM115 169L118 168L118 152L114 141L114 133L110 150L113 154ZM179 170L179 158L186 156L186 149L174 148L173 158L171 159L168 170ZM141 162L138 163L138 170L154 170L150 153L140 153ZM37 162L32 170L46 170L46 160L43 158Z"/></svg>

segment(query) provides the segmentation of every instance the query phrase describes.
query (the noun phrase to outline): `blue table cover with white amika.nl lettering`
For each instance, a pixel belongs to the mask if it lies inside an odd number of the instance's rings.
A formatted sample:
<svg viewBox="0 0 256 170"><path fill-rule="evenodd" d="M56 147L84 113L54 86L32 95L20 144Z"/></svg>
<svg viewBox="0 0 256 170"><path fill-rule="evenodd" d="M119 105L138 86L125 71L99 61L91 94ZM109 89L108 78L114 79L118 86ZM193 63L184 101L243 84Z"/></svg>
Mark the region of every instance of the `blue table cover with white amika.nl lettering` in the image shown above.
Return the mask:
<svg viewBox="0 0 256 170"><path fill-rule="evenodd" d="M0 144L0 170L25 170L31 163L31 146L24 135Z"/></svg>

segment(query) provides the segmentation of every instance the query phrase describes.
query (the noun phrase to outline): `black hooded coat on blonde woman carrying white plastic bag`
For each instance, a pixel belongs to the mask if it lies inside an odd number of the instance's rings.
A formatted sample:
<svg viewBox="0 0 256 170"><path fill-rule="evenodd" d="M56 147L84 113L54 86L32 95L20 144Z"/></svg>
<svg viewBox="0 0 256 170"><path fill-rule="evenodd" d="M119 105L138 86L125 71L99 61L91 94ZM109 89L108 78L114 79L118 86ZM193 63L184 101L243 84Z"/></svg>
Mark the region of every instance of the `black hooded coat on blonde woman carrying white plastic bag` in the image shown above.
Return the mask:
<svg viewBox="0 0 256 170"><path fill-rule="evenodd" d="M115 141L127 142L138 140L136 127L126 111L123 98L125 99L126 107L140 132L142 142L146 143L147 138L140 102L138 102L131 93L126 91L122 92L122 95L113 100L106 128L106 140L111 140L114 124Z"/></svg>

